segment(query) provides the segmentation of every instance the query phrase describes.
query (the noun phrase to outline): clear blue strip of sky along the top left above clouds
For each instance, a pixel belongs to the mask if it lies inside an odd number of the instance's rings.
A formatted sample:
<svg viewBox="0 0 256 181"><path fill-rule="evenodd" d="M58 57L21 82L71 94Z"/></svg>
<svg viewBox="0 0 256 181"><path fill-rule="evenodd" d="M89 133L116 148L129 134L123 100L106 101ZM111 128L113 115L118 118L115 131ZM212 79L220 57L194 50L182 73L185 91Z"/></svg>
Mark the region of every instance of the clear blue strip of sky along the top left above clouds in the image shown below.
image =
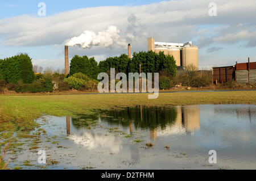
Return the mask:
<svg viewBox="0 0 256 181"><path fill-rule="evenodd" d="M69 10L75 10L85 7L98 7L98 6L136 6L148 5L160 0L97 0L97 1L83 1L83 0L42 0L42 1L7 1L1 0L0 18L13 17L23 14L30 14L36 16L38 14L38 3L44 2L47 5L47 15L57 14Z"/></svg>

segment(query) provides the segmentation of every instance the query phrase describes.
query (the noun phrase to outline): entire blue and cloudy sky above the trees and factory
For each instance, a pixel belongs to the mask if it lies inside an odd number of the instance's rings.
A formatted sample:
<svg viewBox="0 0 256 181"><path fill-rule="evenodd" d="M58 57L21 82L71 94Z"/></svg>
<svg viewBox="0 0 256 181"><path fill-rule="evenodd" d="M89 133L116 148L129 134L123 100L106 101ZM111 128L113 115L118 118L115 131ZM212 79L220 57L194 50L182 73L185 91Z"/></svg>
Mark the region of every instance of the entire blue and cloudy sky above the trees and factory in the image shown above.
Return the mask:
<svg viewBox="0 0 256 181"><path fill-rule="evenodd" d="M46 16L38 14L40 2ZM212 2L216 16L209 15ZM101 61L127 53L118 42L130 43L132 52L147 50L152 36L171 43L192 41L199 47L200 69L246 62L247 57L256 61L255 0L1 0L0 5L0 58L28 53L43 68L63 69L65 43L85 31L99 35L102 43L69 47L69 59L78 54ZM110 26L117 28L114 35L108 33Z"/></svg>

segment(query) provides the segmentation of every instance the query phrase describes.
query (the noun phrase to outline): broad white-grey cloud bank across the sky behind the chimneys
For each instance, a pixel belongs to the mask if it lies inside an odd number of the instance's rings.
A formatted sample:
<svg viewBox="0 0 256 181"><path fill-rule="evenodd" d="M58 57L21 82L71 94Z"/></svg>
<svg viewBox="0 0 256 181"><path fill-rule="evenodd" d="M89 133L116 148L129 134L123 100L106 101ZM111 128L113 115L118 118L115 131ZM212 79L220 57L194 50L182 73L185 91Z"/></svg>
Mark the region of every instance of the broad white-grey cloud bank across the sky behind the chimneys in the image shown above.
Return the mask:
<svg viewBox="0 0 256 181"><path fill-rule="evenodd" d="M255 0L216 0L217 16L208 15L210 2L212 0L181 0L143 6L92 7L45 18L22 15L1 19L0 37L3 45L9 46L62 47L65 40L79 36L86 30L100 32L108 26L116 26L120 30L120 37L128 40L132 50L137 52L147 50L147 37L150 36L154 36L156 41L177 43L197 37L196 45L208 49L216 47L212 45L214 43L245 42L246 46L256 46ZM199 27L203 27L203 30ZM102 58L121 53L127 53L127 50L118 45L89 50L72 47L69 57L86 54ZM62 59L60 63L62 66Z"/></svg>

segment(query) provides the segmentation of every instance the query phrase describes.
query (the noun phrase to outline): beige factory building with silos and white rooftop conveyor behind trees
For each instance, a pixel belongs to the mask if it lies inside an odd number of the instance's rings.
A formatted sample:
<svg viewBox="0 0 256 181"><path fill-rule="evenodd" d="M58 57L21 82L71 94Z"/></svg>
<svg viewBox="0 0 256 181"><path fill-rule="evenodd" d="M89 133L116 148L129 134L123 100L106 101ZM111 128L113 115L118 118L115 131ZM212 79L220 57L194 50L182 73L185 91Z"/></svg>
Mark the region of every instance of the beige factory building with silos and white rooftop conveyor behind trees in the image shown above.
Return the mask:
<svg viewBox="0 0 256 181"><path fill-rule="evenodd" d="M166 55L174 56L178 67L188 66L193 64L199 68L198 64L198 47L192 45L192 42L187 43L164 43L155 42L153 37L148 38L148 51L159 53L164 52Z"/></svg>

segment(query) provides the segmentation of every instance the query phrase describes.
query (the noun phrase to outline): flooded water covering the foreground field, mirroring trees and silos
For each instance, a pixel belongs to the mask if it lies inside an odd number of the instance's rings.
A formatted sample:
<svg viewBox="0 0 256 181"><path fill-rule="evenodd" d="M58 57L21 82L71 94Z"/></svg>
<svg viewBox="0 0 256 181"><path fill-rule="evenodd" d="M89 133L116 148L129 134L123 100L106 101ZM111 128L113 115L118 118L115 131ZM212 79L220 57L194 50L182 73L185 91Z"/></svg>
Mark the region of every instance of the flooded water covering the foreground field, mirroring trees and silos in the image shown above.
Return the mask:
<svg viewBox="0 0 256 181"><path fill-rule="evenodd" d="M9 167L256 169L253 105L137 106L36 121L43 130L38 146L24 139L22 151L7 155L15 157ZM46 151L46 165L38 163L39 150ZM216 150L216 164L209 150Z"/></svg>

